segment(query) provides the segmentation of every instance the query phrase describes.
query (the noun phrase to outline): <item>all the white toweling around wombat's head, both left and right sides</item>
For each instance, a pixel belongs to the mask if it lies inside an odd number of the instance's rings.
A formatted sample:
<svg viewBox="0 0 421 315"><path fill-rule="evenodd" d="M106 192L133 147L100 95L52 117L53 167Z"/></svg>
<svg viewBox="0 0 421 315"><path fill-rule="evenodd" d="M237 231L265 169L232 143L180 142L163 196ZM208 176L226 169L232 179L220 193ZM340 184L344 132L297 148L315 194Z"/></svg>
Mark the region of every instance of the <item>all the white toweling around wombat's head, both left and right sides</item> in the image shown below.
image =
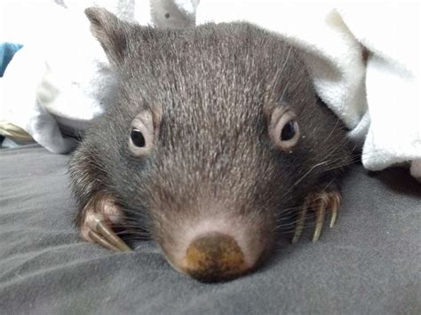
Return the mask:
<svg viewBox="0 0 421 315"><path fill-rule="evenodd" d="M346 123L349 137L363 144L364 166L379 170L412 161L411 174L421 180L419 4L155 0L151 15L147 0L63 2L68 9L55 8L60 11L54 13L58 14L55 18L45 14L39 2L27 12L26 24L31 26L25 28L27 36L44 45L39 49L38 44L35 50L27 44L0 80L0 118L6 113L6 118L52 152L65 153L73 147L61 137L58 122L83 129L84 122L101 112L111 91L107 59L89 34L84 7L104 5L142 25L165 22L161 15L179 8L171 12L171 19L193 16L198 25L246 20L306 51L316 91ZM3 12L7 9L11 12L7 7ZM45 17L42 29L37 26L39 16ZM61 32L68 40L62 39ZM364 50L369 51L367 60L362 58ZM26 85L16 79L22 70L27 74ZM6 83L13 76L14 83Z"/></svg>

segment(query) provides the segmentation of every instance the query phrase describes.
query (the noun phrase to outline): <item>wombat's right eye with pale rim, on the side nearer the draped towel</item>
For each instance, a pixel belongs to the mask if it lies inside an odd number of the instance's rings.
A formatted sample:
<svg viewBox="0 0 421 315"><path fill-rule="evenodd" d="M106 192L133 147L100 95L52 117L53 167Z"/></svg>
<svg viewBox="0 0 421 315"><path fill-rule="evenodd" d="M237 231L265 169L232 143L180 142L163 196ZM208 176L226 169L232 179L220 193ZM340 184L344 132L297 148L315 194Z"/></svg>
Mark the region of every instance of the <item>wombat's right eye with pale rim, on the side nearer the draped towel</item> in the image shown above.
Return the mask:
<svg viewBox="0 0 421 315"><path fill-rule="evenodd" d="M294 112L283 106L275 108L269 124L269 135L282 151L291 152L299 139L298 122Z"/></svg>

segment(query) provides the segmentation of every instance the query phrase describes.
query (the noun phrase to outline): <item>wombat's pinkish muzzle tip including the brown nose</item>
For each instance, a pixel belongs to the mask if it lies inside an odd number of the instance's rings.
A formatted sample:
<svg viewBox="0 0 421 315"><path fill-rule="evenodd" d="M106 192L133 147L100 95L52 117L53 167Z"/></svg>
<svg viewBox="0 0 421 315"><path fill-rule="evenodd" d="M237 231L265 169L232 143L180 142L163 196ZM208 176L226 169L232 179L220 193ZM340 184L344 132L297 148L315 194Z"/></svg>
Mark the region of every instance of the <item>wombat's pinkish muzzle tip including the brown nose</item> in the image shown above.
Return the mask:
<svg viewBox="0 0 421 315"><path fill-rule="evenodd" d="M272 248L272 226L268 222L250 224L245 218L232 220L196 218L183 228L161 234L158 240L164 256L179 272L203 282L234 280L254 271L267 249ZM161 230L162 232L163 230Z"/></svg>

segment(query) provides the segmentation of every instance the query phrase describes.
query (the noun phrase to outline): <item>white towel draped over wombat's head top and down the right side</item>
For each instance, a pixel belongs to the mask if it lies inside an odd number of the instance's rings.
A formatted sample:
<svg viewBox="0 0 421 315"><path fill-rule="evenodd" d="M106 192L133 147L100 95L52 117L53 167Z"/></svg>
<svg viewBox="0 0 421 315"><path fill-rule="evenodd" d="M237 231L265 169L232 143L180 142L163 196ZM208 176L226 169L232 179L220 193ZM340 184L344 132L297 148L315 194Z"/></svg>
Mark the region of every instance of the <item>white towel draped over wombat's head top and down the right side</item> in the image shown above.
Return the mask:
<svg viewBox="0 0 421 315"><path fill-rule="evenodd" d="M238 20L306 51L317 93L363 143L366 169L416 161L411 174L421 181L419 4L202 0L196 8L196 24Z"/></svg>

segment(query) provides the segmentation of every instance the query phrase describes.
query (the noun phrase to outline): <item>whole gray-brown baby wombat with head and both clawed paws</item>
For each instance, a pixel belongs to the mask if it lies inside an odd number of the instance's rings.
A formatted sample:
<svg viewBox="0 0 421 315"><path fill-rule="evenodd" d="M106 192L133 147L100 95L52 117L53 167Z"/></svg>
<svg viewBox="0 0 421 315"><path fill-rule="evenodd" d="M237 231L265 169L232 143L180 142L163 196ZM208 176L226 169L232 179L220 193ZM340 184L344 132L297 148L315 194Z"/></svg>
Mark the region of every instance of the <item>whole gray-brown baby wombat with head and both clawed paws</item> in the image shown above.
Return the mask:
<svg viewBox="0 0 421 315"><path fill-rule="evenodd" d="M216 281L255 269L291 224L298 241L307 209L314 240L326 211L334 223L351 150L296 49L246 23L86 14L118 83L69 165L84 240L150 236L179 272Z"/></svg>

